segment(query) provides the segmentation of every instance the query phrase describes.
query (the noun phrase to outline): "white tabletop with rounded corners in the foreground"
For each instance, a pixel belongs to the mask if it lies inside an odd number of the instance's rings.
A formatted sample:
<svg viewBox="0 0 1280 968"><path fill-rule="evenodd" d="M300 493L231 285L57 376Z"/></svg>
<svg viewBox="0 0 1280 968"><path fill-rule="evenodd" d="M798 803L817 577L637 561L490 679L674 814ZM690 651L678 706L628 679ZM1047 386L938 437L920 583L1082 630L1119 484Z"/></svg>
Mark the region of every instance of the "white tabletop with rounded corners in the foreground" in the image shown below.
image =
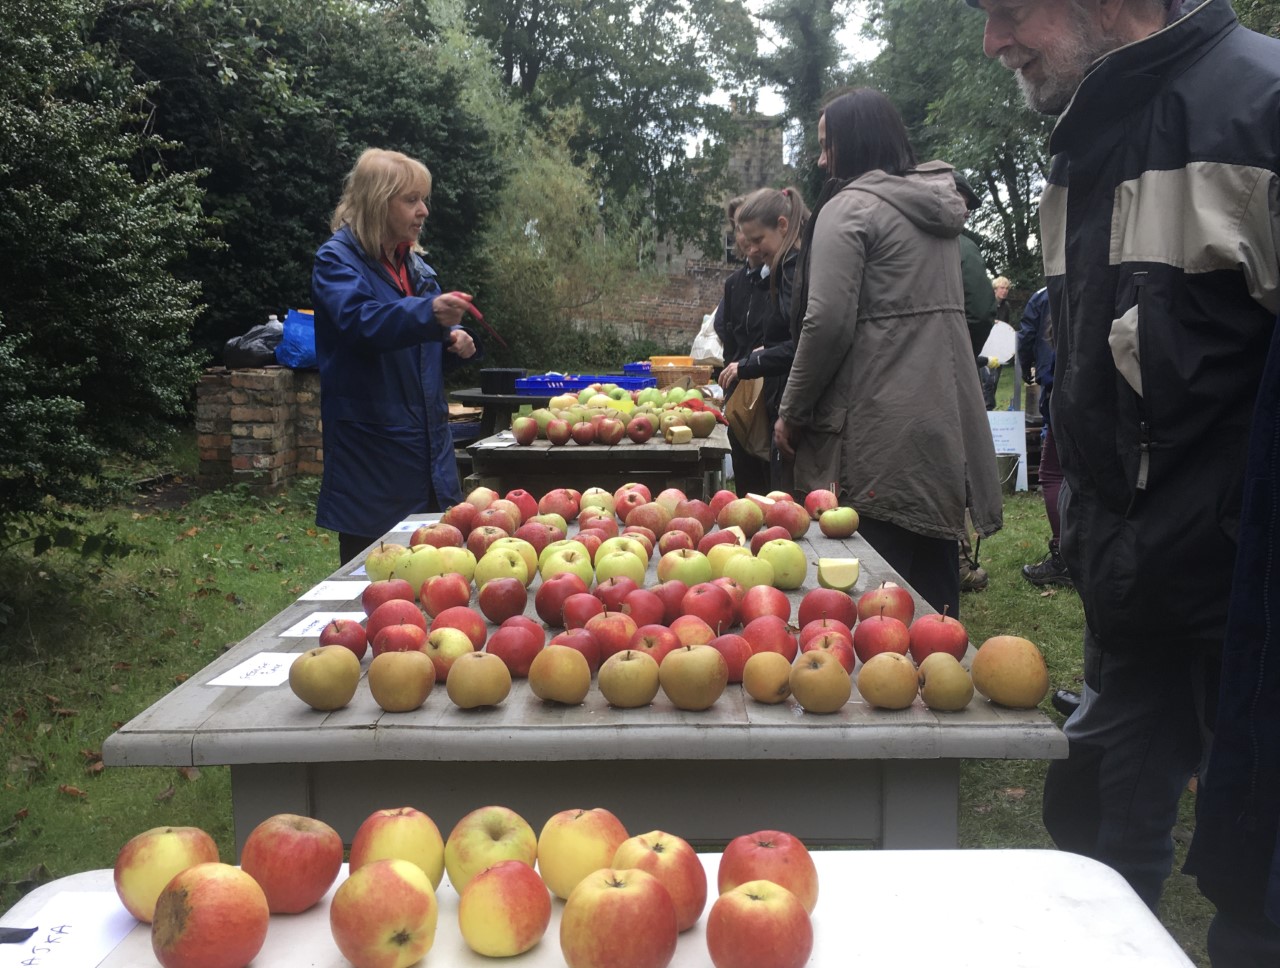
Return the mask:
<svg viewBox="0 0 1280 968"><path fill-rule="evenodd" d="M1190 968L1192 962L1130 890L1102 864L1053 850L818 850L818 907L813 913L814 968L947 965L947 968ZM718 854L703 854L709 896L703 918L680 936L673 968L709 968L707 910L716 896ZM339 875L339 878L343 877ZM32 927L63 891L114 894L110 871L88 871L40 887L9 910L6 927ZM332 896L332 891L330 891ZM457 927L457 894L445 880L435 945L421 962L492 968ZM522 968L563 968L559 917ZM329 898L303 914L275 916L256 968L349 968L329 932ZM5 946L8 948L8 946ZM0 958L4 954L0 953ZM0 962L4 964L4 962ZM95 965L156 964L150 928L138 924Z"/></svg>

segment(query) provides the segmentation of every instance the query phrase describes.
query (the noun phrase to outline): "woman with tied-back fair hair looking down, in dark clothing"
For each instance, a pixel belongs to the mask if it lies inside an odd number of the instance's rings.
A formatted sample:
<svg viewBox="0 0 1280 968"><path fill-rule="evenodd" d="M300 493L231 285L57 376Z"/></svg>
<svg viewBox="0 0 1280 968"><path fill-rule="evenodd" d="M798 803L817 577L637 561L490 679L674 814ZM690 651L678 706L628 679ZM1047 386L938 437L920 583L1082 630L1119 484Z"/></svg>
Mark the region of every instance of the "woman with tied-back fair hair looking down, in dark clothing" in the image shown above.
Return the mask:
<svg viewBox="0 0 1280 968"><path fill-rule="evenodd" d="M769 426L778 419L782 391L795 356L787 314L800 238L808 219L809 209L795 188L760 188L751 192L737 210L748 259L758 259L762 264L762 277L769 289L769 311L762 320L760 343L744 359L724 367L721 384L728 387L739 379L763 376ZM769 467L769 490L792 490L791 460L783 457L777 447L771 451Z"/></svg>

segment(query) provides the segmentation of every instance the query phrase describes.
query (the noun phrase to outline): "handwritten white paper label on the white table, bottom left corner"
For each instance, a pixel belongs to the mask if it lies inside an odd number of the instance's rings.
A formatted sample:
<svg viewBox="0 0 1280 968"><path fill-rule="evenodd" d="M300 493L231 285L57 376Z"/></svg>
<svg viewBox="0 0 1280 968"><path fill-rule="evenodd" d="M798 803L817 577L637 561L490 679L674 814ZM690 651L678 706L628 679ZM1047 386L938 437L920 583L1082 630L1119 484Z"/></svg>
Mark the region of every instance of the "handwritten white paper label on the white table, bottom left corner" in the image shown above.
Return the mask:
<svg viewBox="0 0 1280 968"><path fill-rule="evenodd" d="M38 924L20 945L0 945L0 968L86 968L102 962L138 926L114 894L54 895L27 924Z"/></svg>

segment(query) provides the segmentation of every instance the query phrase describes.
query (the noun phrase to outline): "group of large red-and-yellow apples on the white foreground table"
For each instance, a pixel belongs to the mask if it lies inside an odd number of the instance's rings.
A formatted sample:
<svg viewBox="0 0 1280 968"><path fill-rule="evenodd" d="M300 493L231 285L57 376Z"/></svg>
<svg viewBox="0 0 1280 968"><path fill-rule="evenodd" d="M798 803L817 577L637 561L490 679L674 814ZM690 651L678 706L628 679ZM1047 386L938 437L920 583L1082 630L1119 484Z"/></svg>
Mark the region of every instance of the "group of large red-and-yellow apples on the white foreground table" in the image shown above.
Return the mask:
<svg viewBox="0 0 1280 968"><path fill-rule="evenodd" d="M151 921L165 968L244 968L273 914L301 913L329 894L342 857L337 831L294 814L259 825L238 868L218 862L204 831L157 827L122 848L115 883L125 908ZM463 941L490 958L538 945L552 896L561 898L559 944L570 968L664 968L708 899L705 868L687 841L659 830L631 836L600 807L561 811L540 835L507 807L481 807L447 840L419 809L379 809L356 831L348 875L329 903L338 950L357 968L419 962L435 942L445 872L458 894ZM717 895L707 921L717 968L808 962L818 873L797 837L769 830L730 841Z"/></svg>

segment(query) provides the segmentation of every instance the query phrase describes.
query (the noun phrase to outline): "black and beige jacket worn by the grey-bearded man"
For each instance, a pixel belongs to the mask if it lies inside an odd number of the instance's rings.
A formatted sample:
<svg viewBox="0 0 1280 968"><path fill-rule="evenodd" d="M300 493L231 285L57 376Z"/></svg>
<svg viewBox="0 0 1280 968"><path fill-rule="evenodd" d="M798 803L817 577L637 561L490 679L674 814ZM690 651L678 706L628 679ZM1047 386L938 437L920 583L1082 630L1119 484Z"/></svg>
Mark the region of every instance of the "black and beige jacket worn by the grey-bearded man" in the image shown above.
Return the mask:
<svg viewBox="0 0 1280 968"><path fill-rule="evenodd" d="M1280 41L1207 0L1101 59L1041 201L1062 553L1105 649L1219 641L1280 310Z"/></svg>

